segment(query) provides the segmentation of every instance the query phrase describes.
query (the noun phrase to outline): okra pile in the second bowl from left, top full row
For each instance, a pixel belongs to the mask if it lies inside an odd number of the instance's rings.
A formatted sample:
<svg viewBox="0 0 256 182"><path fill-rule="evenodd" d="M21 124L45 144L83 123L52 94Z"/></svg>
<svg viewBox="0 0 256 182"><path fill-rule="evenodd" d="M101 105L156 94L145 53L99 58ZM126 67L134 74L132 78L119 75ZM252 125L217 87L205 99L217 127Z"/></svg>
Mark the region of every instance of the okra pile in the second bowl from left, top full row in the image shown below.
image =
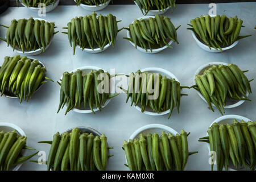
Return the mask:
<svg viewBox="0 0 256 182"><path fill-rule="evenodd" d="M111 44L113 47L115 45L115 39L117 38L117 33L123 28L118 30L117 17L112 14L107 16L102 16L96 13L92 15L86 15L84 17L73 18L71 22L68 23L68 32L63 32L68 35L68 40L70 46L73 46L73 54L75 55L76 46L80 46L82 50L84 48L101 48L103 50L104 46Z"/></svg>

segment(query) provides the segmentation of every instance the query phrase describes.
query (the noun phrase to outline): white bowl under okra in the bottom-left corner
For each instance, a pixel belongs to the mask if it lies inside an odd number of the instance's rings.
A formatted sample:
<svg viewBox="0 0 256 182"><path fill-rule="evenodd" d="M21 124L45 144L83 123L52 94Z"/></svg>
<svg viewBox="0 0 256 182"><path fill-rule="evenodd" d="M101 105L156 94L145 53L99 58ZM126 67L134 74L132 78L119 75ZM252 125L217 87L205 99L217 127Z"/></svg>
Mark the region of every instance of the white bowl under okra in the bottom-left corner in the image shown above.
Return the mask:
<svg viewBox="0 0 256 182"><path fill-rule="evenodd" d="M0 131L5 131L5 132L9 132L9 131L13 131L16 130L19 136L24 136L26 137L26 134L24 133L24 131L22 129L20 129L19 126L14 125L13 123L0 123ZM22 155L25 156L26 155L26 150L22 151ZM11 170L13 171L18 171L19 168L22 166L21 164L16 165L15 167L12 167Z"/></svg>

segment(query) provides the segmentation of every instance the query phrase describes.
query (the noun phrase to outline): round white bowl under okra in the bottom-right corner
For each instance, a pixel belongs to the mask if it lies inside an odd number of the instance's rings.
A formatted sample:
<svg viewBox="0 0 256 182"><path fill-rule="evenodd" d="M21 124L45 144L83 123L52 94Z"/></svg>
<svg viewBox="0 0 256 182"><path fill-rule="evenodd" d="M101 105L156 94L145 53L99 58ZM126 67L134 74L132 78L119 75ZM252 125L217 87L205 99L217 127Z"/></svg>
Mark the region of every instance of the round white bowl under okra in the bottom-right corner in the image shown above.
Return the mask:
<svg viewBox="0 0 256 182"><path fill-rule="evenodd" d="M220 125L220 124L224 124L224 125L225 125L225 124L232 124L233 119L237 119L238 122L240 122L241 120L243 120L243 121L245 121L246 123L247 123L248 121L251 121L251 119L248 119L248 118L243 117L243 116L241 116L241 115L233 115L233 114L230 114L230 115L222 115L221 117L215 119L215 120L210 124L210 126L212 126L213 123L218 123L219 125ZM208 133L207 133L206 136L208 137ZM208 150L209 150L209 152L210 152L210 144L209 144L209 143L207 143L207 148L208 148ZM244 169L244 168L238 166L238 170L239 170L239 169ZM229 170L229 171L236 171L237 169L235 169L234 166L231 164L230 167L228 167L228 170Z"/></svg>

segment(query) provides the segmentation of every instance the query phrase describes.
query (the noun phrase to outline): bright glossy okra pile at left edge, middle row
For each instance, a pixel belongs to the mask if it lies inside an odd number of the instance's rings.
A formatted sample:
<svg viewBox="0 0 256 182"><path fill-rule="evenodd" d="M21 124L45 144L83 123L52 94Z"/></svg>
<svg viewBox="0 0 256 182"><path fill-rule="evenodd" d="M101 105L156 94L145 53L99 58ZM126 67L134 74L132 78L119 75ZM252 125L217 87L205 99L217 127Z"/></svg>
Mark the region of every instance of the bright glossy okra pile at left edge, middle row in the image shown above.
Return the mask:
<svg viewBox="0 0 256 182"><path fill-rule="evenodd" d="M29 100L40 85L51 80L46 77L46 68L38 60L26 56L5 57L0 68L0 92L10 92L22 100ZM52 80L51 80L52 81Z"/></svg>

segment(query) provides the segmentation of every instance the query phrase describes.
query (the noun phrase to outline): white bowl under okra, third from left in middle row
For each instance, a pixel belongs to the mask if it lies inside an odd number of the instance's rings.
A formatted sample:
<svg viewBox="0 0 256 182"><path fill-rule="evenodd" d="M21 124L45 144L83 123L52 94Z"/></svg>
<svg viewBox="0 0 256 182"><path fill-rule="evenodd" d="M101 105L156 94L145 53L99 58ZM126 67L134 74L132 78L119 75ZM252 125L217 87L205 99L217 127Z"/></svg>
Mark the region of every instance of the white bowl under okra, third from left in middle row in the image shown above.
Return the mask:
<svg viewBox="0 0 256 182"><path fill-rule="evenodd" d="M145 68L145 69L141 69L141 72L160 73L160 75L162 76L166 76L167 78L175 78L176 81L180 82L174 74L172 74L171 72L163 68ZM131 98L130 98L130 101L131 101ZM141 107L137 105L135 106L135 108L141 112ZM170 113L170 110L166 110L160 113L155 113L152 111L152 109L146 107L143 113L147 115L164 115L164 114Z"/></svg>

